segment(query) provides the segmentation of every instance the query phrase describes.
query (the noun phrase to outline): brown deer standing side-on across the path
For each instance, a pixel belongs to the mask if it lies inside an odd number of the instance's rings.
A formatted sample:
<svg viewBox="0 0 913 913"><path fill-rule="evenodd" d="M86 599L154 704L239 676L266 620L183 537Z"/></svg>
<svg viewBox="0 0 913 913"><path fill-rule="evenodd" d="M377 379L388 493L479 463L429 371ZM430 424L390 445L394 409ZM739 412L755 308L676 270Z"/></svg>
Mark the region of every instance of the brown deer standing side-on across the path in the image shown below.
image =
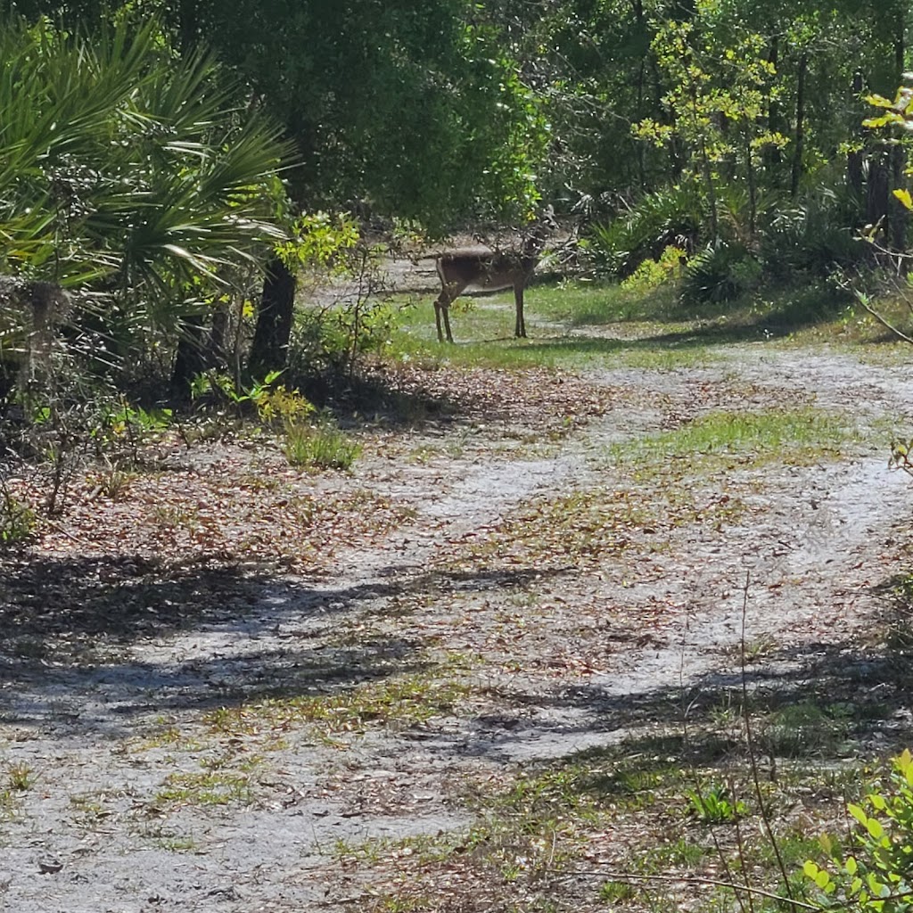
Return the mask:
<svg viewBox="0 0 913 913"><path fill-rule="evenodd" d="M441 293L435 300L437 341L453 342L450 332L450 305L467 289L478 291L514 290L517 319L514 335L526 338L523 318L523 291L539 264L545 247L545 227L540 223L519 251L511 250L451 250L436 258L437 275L441 278Z"/></svg>

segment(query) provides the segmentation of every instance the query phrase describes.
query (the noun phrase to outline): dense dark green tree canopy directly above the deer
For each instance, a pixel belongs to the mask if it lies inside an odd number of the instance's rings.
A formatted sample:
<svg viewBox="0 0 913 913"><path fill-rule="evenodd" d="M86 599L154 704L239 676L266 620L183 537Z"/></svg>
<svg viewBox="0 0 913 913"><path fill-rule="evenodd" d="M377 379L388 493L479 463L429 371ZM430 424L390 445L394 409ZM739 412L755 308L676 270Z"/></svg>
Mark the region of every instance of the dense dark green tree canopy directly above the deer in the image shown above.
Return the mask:
<svg viewBox="0 0 913 913"><path fill-rule="evenodd" d="M184 27L183 7L166 10ZM547 124L483 6L343 0L251 16L245 0L208 0L192 18L299 143L299 198L370 199L433 232L536 204Z"/></svg>

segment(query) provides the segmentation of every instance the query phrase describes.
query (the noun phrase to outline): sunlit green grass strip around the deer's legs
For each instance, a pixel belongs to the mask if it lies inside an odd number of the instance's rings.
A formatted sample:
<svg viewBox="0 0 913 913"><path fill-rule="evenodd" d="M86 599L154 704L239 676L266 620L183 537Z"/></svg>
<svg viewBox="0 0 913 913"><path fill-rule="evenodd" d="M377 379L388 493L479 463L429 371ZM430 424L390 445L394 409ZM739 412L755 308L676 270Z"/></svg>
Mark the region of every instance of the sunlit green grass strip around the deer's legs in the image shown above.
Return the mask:
<svg viewBox="0 0 913 913"><path fill-rule="evenodd" d="M513 295L457 299L456 345L436 341L434 295L410 299L390 357L461 366L668 371L713 362L716 347L744 341L873 341L884 334L845 295L825 284L774 289L737 302L685 308L672 287L647 294L599 282L527 290L529 340L514 340ZM871 351L869 346L869 351Z"/></svg>

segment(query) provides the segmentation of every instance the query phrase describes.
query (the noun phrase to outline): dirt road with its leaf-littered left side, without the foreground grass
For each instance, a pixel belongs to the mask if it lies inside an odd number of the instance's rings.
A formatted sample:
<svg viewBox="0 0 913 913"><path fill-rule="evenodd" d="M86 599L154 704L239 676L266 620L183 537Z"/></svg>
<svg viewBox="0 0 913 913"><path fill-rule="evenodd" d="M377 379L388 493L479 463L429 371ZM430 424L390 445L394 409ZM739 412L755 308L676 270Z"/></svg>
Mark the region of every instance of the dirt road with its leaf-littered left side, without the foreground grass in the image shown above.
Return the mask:
<svg viewBox="0 0 913 913"><path fill-rule="evenodd" d="M913 422L909 384L841 352L709 356L438 377L466 409L364 433L351 476L251 446L175 456L154 484L178 479L203 530L180 573L152 533L118 552L159 517L140 483L119 505L76 498L0 582L0 908L424 909L392 906L378 855L458 843L484 784L737 693L742 656L782 701L825 680L884 696L866 632L908 547L913 482L888 471L887 440ZM708 416L778 409L844 431L767 457L750 435L675 450ZM233 477L237 535L269 498L290 550L301 537L287 571L207 554L210 483ZM306 497L350 519L282 525ZM860 743L902 739L907 709L891 713ZM443 878L437 900L538 908L509 879L474 894ZM586 886L556 903L599 906Z"/></svg>

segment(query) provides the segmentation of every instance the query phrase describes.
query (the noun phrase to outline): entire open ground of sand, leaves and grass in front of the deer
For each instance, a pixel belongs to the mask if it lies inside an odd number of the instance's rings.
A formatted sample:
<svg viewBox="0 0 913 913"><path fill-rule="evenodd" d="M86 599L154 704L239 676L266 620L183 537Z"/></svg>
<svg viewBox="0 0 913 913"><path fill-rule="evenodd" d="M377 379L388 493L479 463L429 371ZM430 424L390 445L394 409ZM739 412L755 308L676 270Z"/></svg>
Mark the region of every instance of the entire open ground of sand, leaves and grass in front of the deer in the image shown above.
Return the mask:
<svg viewBox="0 0 913 913"><path fill-rule="evenodd" d="M562 337L576 373L403 369L351 474L243 437L80 480L0 557L0 907L698 908L623 876L729 880L687 796L735 802L745 698L801 866L913 724L910 384L623 331Z"/></svg>

